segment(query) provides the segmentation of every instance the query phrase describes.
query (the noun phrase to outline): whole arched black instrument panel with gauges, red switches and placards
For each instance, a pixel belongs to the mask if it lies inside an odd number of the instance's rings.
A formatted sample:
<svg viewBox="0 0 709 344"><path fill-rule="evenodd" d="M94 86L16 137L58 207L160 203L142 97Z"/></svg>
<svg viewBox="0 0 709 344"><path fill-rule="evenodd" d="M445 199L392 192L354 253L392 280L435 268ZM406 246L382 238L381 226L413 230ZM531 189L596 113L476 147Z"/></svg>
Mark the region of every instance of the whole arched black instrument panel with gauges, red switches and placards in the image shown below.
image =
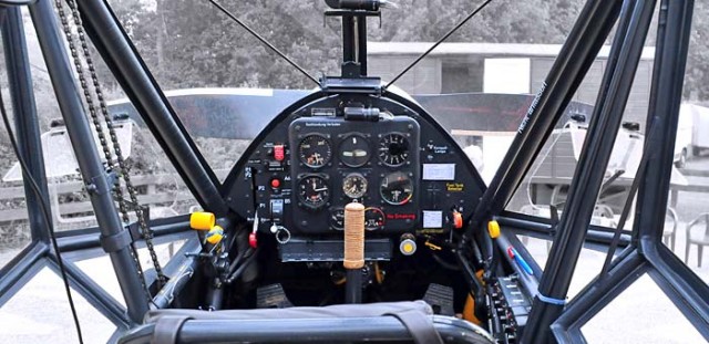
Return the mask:
<svg viewBox="0 0 709 344"><path fill-rule="evenodd" d="M348 107L379 116L348 117ZM260 232L276 225L312 240L341 238L351 201L366 207L368 238L449 233L470 218L484 189L461 147L424 110L403 97L362 94L312 96L287 108L225 186L229 207L258 218Z"/></svg>

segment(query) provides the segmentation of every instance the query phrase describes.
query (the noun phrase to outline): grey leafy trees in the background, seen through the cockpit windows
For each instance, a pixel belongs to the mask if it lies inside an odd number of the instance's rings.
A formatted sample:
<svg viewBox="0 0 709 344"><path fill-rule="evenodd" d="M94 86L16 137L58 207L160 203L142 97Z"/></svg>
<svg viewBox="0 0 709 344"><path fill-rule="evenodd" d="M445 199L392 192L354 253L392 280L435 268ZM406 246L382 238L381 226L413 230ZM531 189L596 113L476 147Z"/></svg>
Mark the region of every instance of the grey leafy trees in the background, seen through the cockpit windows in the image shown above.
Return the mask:
<svg viewBox="0 0 709 344"><path fill-rule="evenodd" d="M563 43L585 0L493 1L453 34L451 42ZM382 11L382 27L370 19L373 41L433 42L473 11L480 1L400 0ZM114 11L164 88L312 87L295 69L206 1L112 2ZM311 74L339 74L339 19L323 20L325 1L244 0L224 3ZM709 6L696 2L695 18ZM325 24L323 24L325 21ZM654 31L654 30L653 30ZM709 98L709 34L695 20L685 95ZM654 45L655 32L648 43Z"/></svg>

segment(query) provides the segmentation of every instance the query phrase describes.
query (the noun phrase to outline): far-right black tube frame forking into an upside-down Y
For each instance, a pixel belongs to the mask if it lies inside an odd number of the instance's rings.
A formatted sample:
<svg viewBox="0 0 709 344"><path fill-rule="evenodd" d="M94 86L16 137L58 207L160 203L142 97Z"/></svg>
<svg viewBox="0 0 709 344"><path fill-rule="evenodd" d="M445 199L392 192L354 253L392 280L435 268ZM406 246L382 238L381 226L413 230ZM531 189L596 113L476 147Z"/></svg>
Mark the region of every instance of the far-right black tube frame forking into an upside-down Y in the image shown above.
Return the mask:
<svg viewBox="0 0 709 344"><path fill-rule="evenodd" d="M580 327L645 273L709 340L709 301L706 299L709 286L661 243L692 8L693 0L662 0L660 3L647 119L660 131L647 143L646 154L654 168L636 176L643 179L637 198L634 241L614 260L607 275L589 283L552 325L559 343L580 343Z"/></svg>

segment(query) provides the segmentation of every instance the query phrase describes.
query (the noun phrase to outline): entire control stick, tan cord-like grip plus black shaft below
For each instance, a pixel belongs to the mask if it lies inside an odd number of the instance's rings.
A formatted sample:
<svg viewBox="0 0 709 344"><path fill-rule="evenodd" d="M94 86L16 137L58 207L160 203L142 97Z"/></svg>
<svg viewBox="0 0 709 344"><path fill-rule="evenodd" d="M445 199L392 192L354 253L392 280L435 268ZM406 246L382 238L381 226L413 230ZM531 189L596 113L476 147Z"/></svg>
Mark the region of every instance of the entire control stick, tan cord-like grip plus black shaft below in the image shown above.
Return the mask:
<svg viewBox="0 0 709 344"><path fill-rule="evenodd" d="M364 206L345 206L345 269L347 269L346 303L362 302L362 268L364 267Z"/></svg>

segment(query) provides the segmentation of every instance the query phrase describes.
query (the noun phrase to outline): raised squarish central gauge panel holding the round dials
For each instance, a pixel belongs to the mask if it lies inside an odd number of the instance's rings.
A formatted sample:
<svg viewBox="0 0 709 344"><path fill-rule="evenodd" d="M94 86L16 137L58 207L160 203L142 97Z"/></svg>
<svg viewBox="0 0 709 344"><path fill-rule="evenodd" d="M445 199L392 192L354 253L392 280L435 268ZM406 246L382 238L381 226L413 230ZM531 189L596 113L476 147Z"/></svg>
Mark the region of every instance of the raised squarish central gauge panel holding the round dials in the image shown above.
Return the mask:
<svg viewBox="0 0 709 344"><path fill-rule="evenodd" d="M288 143L297 152L290 158L296 183L291 211L299 219L295 231L341 229L337 219L351 201L367 207L369 230L412 229L419 198L419 124L405 116L378 122L292 121Z"/></svg>

